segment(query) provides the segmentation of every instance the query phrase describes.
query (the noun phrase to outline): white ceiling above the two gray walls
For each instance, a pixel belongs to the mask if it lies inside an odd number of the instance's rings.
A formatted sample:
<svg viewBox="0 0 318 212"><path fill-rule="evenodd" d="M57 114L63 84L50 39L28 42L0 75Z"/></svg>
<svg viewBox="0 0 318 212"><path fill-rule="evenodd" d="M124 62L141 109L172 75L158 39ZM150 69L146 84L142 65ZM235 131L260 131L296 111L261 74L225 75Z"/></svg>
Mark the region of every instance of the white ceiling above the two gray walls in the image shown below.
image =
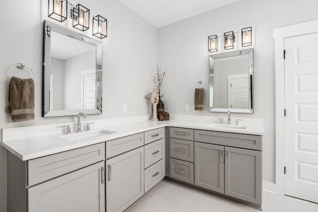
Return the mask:
<svg viewBox="0 0 318 212"><path fill-rule="evenodd" d="M121 0L156 28L239 0Z"/></svg>

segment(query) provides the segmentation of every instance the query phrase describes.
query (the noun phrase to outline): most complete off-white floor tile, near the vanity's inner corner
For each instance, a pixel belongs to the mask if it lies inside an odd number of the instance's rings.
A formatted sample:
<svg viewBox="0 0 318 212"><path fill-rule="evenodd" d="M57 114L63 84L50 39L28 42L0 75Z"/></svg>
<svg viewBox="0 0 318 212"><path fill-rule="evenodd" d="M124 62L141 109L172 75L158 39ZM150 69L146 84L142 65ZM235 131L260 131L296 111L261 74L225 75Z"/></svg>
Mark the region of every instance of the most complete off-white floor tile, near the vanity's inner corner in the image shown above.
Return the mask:
<svg viewBox="0 0 318 212"><path fill-rule="evenodd" d="M156 197L172 202L178 206L189 209L194 212L202 212L207 198L195 195L193 193L181 190L170 185L165 186Z"/></svg>

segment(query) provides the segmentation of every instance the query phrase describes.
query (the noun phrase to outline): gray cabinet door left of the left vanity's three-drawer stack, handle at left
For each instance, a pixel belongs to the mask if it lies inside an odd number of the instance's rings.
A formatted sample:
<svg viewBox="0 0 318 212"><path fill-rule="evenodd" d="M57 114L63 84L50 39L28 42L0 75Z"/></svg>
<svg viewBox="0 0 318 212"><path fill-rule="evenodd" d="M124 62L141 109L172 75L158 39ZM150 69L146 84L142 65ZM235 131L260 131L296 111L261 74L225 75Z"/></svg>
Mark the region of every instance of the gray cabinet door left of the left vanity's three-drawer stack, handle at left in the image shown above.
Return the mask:
<svg viewBox="0 0 318 212"><path fill-rule="evenodd" d="M107 212L122 212L144 195L144 147L106 160Z"/></svg>

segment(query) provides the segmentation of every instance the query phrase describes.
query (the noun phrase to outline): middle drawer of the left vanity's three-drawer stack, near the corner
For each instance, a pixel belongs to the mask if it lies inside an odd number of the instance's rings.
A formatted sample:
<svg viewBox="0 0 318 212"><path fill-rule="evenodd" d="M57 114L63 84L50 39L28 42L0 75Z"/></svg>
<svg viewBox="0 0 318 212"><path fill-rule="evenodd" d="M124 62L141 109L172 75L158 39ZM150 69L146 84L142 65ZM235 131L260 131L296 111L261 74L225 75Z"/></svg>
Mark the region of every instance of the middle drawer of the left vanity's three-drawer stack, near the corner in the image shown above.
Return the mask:
<svg viewBox="0 0 318 212"><path fill-rule="evenodd" d="M165 142L164 139L145 145L145 168L153 165L164 158Z"/></svg>

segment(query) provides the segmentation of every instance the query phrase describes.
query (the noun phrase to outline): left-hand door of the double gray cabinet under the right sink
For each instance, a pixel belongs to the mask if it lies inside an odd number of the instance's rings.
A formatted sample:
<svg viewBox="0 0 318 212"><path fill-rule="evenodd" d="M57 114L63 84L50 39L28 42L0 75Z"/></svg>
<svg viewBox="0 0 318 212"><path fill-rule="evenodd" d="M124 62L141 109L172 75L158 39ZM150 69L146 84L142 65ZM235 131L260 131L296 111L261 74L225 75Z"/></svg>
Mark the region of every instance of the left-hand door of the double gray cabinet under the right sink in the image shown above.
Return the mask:
<svg viewBox="0 0 318 212"><path fill-rule="evenodd" d="M224 193L224 146L194 142L194 185Z"/></svg>

